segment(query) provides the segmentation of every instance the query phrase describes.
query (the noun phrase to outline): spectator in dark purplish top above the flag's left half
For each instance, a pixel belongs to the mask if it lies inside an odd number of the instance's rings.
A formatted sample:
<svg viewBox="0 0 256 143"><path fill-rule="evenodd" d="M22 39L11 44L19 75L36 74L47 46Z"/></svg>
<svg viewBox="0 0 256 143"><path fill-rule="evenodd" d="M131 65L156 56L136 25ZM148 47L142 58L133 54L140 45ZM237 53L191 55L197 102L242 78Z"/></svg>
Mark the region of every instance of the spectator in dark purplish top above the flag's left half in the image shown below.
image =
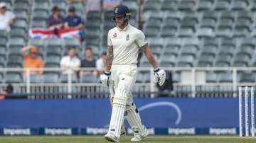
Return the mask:
<svg viewBox="0 0 256 143"><path fill-rule="evenodd" d="M48 27L53 29L62 28L64 23L63 16L60 15L60 9L58 6L54 6L52 9L52 15L48 18Z"/></svg>

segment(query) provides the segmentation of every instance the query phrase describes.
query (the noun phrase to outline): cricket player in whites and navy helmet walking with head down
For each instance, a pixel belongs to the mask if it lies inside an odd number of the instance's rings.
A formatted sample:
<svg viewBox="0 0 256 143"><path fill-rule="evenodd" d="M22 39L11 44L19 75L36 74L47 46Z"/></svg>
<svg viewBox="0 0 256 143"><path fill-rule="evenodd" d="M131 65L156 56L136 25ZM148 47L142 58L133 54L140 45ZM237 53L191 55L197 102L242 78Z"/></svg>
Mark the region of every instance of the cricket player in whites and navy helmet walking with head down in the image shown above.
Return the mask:
<svg viewBox="0 0 256 143"><path fill-rule="evenodd" d="M114 8L114 22L107 36L107 68L100 76L102 84L110 86L110 79L114 81L114 99L110 127L105 139L119 142L121 126L124 116L131 126L134 137L131 141L141 141L149 132L142 125L139 112L132 99L132 86L137 78L137 57L142 49L149 63L154 68L154 82L163 85L165 71L157 67L144 33L129 24L129 8L119 5ZM111 76L111 77L110 77Z"/></svg>

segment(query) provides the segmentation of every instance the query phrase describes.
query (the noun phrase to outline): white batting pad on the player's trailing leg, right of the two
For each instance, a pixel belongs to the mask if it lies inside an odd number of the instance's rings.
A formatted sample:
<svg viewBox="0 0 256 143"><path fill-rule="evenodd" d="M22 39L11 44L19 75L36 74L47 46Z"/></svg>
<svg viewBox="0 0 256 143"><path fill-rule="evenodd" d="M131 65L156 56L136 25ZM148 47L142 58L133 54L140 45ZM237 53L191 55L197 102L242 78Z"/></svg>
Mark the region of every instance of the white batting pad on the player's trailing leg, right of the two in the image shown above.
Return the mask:
<svg viewBox="0 0 256 143"><path fill-rule="evenodd" d="M145 130L144 125L142 125L142 120L139 116L139 111L136 108L136 105L127 105L127 110L124 114L125 118L129 122L129 125L132 127L134 135L142 135Z"/></svg>

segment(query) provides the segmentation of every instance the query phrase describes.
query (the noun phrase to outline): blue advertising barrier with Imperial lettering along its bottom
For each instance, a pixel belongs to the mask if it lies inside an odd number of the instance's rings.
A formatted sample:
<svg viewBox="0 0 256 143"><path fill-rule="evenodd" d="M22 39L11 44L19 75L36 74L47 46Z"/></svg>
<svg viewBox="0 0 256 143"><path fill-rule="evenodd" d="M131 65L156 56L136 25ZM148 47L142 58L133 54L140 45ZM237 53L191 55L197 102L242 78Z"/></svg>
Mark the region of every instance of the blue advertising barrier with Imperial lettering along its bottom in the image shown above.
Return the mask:
<svg viewBox="0 0 256 143"><path fill-rule="evenodd" d="M135 98L134 102L151 135L239 134L238 98ZM110 113L107 99L0 101L0 135L103 135Z"/></svg>

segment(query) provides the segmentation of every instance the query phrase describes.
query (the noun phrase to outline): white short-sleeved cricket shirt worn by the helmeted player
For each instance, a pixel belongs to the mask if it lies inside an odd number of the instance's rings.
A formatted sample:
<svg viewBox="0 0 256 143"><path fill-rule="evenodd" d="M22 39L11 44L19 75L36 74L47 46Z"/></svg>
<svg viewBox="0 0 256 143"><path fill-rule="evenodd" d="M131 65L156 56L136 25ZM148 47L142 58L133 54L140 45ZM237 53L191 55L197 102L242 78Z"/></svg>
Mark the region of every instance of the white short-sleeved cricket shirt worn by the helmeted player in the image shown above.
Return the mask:
<svg viewBox="0 0 256 143"><path fill-rule="evenodd" d="M107 45L113 46L113 65L137 64L139 47L147 41L142 30L128 24L123 30L115 27L107 35Z"/></svg>

